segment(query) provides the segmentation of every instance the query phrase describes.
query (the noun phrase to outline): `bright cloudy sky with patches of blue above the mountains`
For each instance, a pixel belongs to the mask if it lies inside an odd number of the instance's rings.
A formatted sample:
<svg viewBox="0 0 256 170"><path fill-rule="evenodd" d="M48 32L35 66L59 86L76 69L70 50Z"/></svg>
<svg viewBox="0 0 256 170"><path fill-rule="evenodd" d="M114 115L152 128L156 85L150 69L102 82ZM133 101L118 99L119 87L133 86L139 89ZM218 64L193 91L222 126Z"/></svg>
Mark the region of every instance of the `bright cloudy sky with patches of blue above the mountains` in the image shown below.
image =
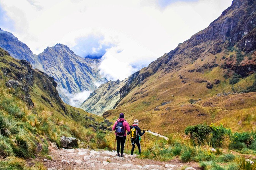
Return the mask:
<svg viewBox="0 0 256 170"><path fill-rule="evenodd" d="M39 54L62 43L103 56L100 73L123 80L206 28L232 0L1 0L0 28Z"/></svg>

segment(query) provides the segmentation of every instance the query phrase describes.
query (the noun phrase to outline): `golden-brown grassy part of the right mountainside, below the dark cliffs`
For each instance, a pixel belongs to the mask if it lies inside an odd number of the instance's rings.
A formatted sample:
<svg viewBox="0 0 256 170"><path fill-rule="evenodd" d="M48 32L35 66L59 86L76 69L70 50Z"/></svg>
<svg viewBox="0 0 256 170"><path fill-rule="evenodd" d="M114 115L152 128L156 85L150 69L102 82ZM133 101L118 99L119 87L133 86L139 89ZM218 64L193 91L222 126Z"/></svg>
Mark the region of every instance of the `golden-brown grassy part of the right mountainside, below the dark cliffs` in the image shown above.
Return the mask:
<svg viewBox="0 0 256 170"><path fill-rule="evenodd" d="M246 89L255 81L255 74L231 85L229 79L226 80L223 76L227 71L220 67L205 69L202 73L189 72L207 63L221 65L227 61L221 59L222 56L230 55L232 52L208 55L203 60L199 58L183 65L179 70L157 72L133 88L117 108L106 112L104 117L115 120L120 112L124 112L129 123L139 119L144 129L164 134L181 132L189 125L222 121L224 126L228 125L234 130L251 130L255 126L256 93L233 94L232 87L239 91ZM228 61L235 62L233 60L234 57ZM220 83L214 84L215 79L220 80ZM212 89L206 87L206 81L214 84ZM231 94L217 96L224 92ZM191 104L189 99L197 102ZM164 102L167 104L162 105ZM241 123L239 128L235 124L240 120L244 122L247 111L252 117L250 123L246 126ZM237 115L240 113L242 114L238 119Z"/></svg>

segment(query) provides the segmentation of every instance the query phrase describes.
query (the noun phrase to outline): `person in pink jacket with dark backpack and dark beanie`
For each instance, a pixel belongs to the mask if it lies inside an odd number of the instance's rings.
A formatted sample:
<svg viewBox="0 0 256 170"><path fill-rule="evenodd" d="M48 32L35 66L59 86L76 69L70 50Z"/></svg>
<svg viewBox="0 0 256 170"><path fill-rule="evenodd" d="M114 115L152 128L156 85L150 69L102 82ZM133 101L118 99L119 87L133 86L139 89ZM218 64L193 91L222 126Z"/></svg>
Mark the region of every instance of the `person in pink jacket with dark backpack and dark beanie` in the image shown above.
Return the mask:
<svg viewBox="0 0 256 170"><path fill-rule="evenodd" d="M120 144L121 144L121 156L123 157L123 149L125 145L125 140L126 140L126 131L129 132L130 126L126 120L124 120L124 114L120 113L119 119L115 122L113 125L112 130L115 130L115 139L117 141L116 145L116 150L117 150L117 156L120 156L119 151L120 151Z"/></svg>

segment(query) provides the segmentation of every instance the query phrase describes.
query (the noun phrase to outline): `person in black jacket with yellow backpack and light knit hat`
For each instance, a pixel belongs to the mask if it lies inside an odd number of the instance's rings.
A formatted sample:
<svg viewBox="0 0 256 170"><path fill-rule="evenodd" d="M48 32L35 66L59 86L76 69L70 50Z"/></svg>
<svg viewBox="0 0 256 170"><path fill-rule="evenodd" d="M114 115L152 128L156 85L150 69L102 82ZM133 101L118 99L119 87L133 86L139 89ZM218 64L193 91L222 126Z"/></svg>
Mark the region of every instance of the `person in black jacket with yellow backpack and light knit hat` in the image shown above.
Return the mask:
<svg viewBox="0 0 256 170"><path fill-rule="evenodd" d="M133 122L133 126L130 126L131 130L127 133L128 135L130 134L130 136L131 136L131 143L133 146L132 150L131 150L131 155L133 155L135 143L138 146L139 153L141 153L140 140L141 140L141 136L144 135L145 131L143 130L143 132L141 133L141 129L138 127L138 125L139 125L139 121L137 119L135 119Z"/></svg>

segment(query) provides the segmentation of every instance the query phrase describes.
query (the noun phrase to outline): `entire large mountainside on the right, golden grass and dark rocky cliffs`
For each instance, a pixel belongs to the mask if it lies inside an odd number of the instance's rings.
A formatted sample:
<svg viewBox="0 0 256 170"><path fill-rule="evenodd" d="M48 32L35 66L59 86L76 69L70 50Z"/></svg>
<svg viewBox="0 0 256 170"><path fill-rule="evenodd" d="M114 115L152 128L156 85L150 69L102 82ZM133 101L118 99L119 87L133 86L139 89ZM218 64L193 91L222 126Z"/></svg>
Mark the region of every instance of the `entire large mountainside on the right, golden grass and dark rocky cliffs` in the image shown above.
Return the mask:
<svg viewBox="0 0 256 170"><path fill-rule="evenodd" d="M128 121L137 118L143 128L165 133L238 113L241 117L230 122L243 122L249 114L253 126L255 10L253 0L234 0L207 28L129 76L116 109L103 116L124 112Z"/></svg>

